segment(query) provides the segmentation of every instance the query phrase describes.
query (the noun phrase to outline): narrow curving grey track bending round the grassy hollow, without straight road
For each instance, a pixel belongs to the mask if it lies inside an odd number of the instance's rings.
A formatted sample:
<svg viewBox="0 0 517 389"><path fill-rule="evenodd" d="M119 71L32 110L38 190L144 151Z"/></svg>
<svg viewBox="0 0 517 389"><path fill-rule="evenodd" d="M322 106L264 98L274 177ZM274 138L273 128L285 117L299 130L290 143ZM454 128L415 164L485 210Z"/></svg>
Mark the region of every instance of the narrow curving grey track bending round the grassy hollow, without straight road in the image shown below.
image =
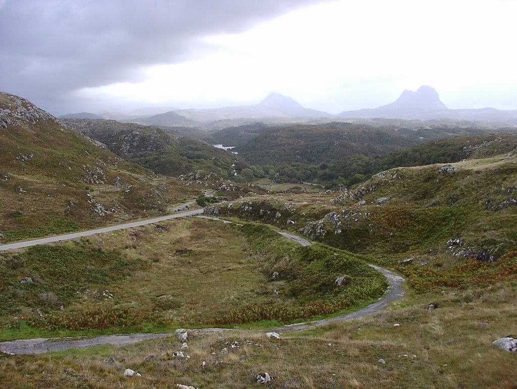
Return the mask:
<svg viewBox="0 0 517 389"><path fill-rule="evenodd" d="M192 211L191 211L192 212ZM176 215L175 215L176 216ZM179 217L179 214L176 216ZM214 220L220 220L216 218L210 218ZM288 234L287 232L277 231L282 236L292 239L303 246L309 246L311 242L306 239L300 238L296 235ZM303 331L309 328L325 325L333 322L343 322L352 319L358 319L364 316L371 315L378 310L385 309L388 307L388 304L391 301L401 299L404 296L404 289L402 284L404 283L404 278L390 272L389 270L380 268L378 266L370 265L375 270L381 272L386 277L389 287L386 290L384 297L379 298L373 304L370 304L367 307L357 310L356 312L349 313L347 315L337 316L330 319L316 320L310 323L300 323L300 324L291 324L284 325L278 328L270 329L268 331L276 331L276 332L294 332L294 331ZM206 328L206 329L198 329L198 330L188 330L188 332L195 333L207 333L207 332L222 332L222 331L231 331L229 329L221 329L221 328ZM37 338L37 339L22 339L22 340L13 340L0 342L0 350L4 353L12 353L12 354L39 354L48 351L63 351L72 348L86 348L92 346L100 346L100 345L114 345L121 346L127 345L131 343L135 343L141 340L147 339L155 339L155 338L164 338L168 336L173 336L175 333L166 333L166 334L129 334L129 335L105 335L105 336L97 336L95 338Z"/></svg>

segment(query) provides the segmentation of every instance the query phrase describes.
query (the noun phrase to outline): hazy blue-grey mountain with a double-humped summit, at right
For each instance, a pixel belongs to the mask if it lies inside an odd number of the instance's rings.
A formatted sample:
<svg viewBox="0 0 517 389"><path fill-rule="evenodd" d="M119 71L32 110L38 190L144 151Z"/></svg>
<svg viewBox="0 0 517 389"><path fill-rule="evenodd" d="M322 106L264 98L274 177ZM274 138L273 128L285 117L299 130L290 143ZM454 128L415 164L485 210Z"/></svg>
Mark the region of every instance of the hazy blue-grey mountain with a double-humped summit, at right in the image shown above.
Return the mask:
<svg viewBox="0 0 517 389"><path fill-rule="evenodd" d="M430 86L421 86L416 92L404 90L393 103L377 108L358 111L343 111L340 118L387 118L406 120L432 120L434 122L450 122L454 120L497 123L499 127L516 126L517 110L503 111L495 108L479 108L472 110L450 110L440 101L438 93Z"/></svg>

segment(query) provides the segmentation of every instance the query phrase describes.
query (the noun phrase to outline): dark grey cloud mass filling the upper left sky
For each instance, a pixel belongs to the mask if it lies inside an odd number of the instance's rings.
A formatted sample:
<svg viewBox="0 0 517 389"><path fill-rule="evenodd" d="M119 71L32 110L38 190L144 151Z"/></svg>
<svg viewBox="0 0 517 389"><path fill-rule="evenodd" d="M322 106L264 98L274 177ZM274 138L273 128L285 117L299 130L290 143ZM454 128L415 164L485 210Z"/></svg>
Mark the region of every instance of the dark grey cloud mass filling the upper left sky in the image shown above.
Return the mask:
<svg viewBox="0 0 517 389"><path fill-rule="evenodd" d="M138 81L200 37L238 33L317 0L0 0L0 90L42 100ZM3 4L3 7L2 7Z"/></svg>

